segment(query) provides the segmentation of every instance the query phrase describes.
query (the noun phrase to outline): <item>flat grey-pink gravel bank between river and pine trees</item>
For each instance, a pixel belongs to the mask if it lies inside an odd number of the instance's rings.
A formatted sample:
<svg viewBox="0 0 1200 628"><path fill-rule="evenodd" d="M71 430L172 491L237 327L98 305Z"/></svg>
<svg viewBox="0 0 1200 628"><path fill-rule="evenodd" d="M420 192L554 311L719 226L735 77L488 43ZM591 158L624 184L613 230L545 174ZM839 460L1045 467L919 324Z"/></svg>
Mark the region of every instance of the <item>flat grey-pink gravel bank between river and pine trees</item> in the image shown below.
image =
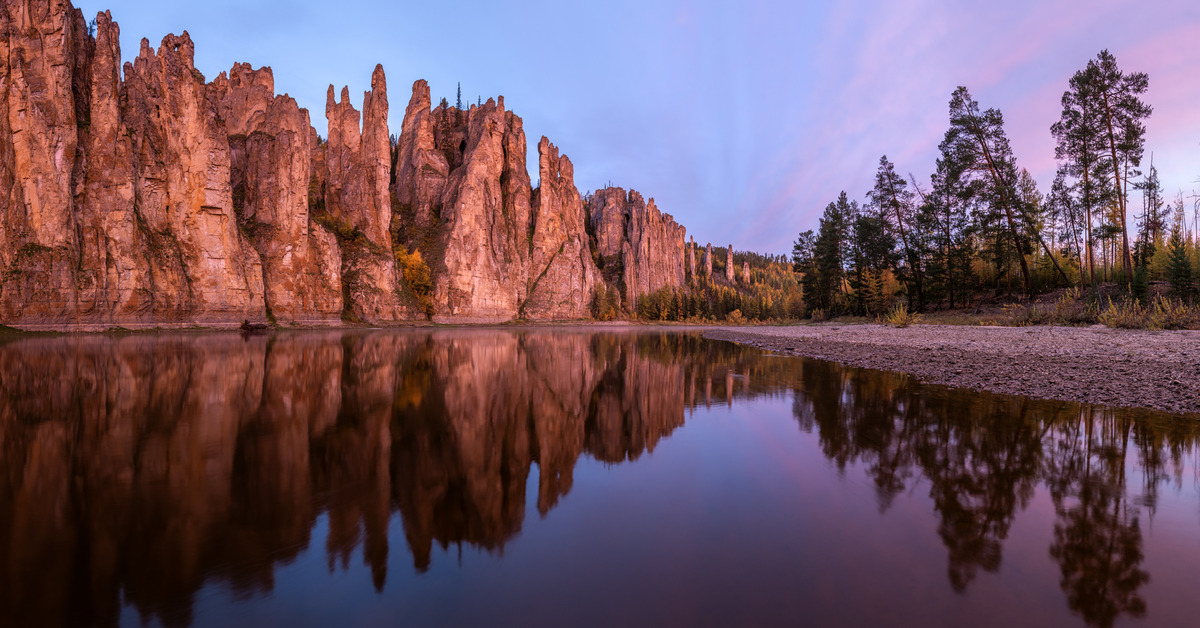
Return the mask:
<svg viewBox="0 0 1200 628"><path fill-rule="evenodd" d="M1200 414L1200 331L816 324L704 335L935 384Z"/></svg>

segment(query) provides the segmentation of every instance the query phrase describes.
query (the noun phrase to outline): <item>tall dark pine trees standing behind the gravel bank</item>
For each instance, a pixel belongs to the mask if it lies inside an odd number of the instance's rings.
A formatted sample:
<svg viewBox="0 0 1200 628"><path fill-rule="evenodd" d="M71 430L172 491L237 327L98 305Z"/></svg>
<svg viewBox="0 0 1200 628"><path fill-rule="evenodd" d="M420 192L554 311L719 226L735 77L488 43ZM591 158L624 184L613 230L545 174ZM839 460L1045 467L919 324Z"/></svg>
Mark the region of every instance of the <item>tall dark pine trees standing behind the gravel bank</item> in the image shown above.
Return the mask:
<svg viewBox="0 0 1200 628"><path fill-rule="evenodd" d="M842 192L792 264L814 313L877 315L896 300L917 311L966 306L985 292L1032 295L1117 282L1146 303L1194 303L1200 201L1166 199L1145 159L1148 77L1104 50L1076 72L1050 132L1060 167L1046 192L1020 168L998 109L967 88L950 96L949 128L928 185L883 156L859 204ZM1130 199L1140 199L1140 213ZM1189 216L1190 214L1190 216Z"/></svg>

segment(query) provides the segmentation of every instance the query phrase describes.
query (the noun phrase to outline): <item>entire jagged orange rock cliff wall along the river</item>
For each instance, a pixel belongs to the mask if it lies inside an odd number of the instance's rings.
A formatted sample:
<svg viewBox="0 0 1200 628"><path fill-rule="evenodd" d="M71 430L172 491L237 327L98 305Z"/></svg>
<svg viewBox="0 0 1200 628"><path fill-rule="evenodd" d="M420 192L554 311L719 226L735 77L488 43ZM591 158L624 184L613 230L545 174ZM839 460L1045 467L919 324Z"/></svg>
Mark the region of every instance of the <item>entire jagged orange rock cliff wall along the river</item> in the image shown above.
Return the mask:
<svg viewBox="0 0 1200 628"><path fill-rule="evenodd" d="M546 138L534 190L503 97L418 80L394 148L376 67L361 116L330 86L320 142L270 68L205 83L186 31L124 68L107 12L2 0L0 31L0 324L565 319L606 279L626 304L686 279L683 228L620 189L589 217Z"/></svg>

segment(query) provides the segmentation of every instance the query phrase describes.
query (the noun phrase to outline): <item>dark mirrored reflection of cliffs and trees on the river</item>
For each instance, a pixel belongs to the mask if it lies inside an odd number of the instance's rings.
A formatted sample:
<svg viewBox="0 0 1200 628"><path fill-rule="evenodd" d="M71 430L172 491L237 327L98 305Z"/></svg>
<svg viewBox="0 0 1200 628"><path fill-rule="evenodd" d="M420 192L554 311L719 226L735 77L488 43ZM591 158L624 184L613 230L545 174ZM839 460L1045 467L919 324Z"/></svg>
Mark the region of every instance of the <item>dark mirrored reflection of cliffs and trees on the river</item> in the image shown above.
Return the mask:
<svg viewBox="0 0 1200 628"><path fill-rule="evenodd" d="M532 472L545 516L581 456L634 461L690 408L764 396L790 396L844 472L865 468L881 513L928 490L955 591L1001 568L1045 486L1069 608L1097 626L1146 614L1142 521L1194 468L1194 421L922 388L694 334L409 330L0 345L0 617L114 624L124 603L186 626L208 584L272 591L318 516L329 568L361 560L384 591L397 512L419 572L434 546L499 552Z"/></svg>

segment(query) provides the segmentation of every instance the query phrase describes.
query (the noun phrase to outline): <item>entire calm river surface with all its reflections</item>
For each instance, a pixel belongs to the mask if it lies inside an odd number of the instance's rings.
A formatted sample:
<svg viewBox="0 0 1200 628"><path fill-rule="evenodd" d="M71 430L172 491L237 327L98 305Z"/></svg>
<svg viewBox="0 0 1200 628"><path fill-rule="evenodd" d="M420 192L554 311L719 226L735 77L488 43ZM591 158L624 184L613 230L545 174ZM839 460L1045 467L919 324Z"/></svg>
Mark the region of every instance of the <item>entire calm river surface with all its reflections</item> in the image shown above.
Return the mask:
<svg viewBox="0 0 1200 628"><path fill-rule="evenodd" d="M1200 423L692 333L0 343L2 626L1198 626Z"/></svg>

